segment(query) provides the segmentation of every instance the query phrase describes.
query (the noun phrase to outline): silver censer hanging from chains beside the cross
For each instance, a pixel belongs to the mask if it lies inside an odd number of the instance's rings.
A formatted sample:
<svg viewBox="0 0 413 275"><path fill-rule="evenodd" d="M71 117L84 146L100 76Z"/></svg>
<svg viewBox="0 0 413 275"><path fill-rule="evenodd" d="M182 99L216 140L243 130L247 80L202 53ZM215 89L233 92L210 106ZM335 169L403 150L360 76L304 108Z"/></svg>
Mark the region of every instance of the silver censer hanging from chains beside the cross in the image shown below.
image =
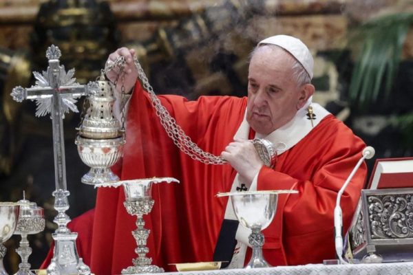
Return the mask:
<svg viewBox="0 0 413 275"><path fill-rule="evenodd" d="M82 161L91 169L81 181L84 184L102 184L118 181L113 166L123 153L125 136L123 126L114 117L114 91L105 76L87 85L89 108L78 127L75 143Z"/></svg>

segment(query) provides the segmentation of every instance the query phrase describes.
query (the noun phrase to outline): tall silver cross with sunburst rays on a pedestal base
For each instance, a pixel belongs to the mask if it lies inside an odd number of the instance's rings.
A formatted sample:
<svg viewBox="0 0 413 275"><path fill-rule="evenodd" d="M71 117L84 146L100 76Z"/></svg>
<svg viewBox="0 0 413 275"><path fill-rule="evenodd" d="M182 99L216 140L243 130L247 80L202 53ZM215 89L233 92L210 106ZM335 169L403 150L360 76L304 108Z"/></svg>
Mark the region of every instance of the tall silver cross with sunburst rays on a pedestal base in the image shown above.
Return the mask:
<svg viewBox="0 0 413 275"><path fill-rule="evenodd" d="M68 274L90 274L90 269L78 257L76 250L77 233L70 232L67 223L69 216L65 213L69 209L67 196L70 192L66 186L66 165L65 165L65 143L63 138L63 118L64 114L70 110L78 112L75 105L76 98L87 94L87 87L76 83L74 69L65 71L65 67L60 65L59 58L61 51L54 45L47 48L46 57L49 66L42 74L33 72L36 78L36 85L25 89L15 87L11 96L17 102L25 99L36 100L36 116L40 117L50 113L53 128L53 151L54 151L54 175L56 190L54 196L54 208L58 214L54 222L59 225L52 234L55 247L52 263L47 267L49 275Z"/></svg>

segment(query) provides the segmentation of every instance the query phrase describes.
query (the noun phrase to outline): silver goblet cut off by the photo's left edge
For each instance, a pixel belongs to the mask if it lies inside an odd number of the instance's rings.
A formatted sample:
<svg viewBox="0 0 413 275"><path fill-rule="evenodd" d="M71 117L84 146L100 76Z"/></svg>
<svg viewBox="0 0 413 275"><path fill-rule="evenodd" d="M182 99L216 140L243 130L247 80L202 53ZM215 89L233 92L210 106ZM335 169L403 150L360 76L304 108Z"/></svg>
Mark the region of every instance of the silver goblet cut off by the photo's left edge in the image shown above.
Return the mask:
<svg viewBox="0 0 413 275"><path fill-rule="evenodd" d="M0 202L0 275L8 275L3 266L6 247L3 245L12 236L19 218L19 205L12 202Z"/></svg>

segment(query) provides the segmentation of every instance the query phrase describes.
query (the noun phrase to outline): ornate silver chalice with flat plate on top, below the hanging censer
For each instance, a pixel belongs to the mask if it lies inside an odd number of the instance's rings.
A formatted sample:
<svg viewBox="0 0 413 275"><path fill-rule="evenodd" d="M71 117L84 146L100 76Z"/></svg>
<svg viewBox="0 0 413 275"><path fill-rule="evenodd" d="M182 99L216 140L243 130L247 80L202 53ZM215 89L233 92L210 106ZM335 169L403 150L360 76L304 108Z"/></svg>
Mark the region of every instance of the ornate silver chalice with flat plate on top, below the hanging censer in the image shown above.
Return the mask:
<svg viewBox="0 0 413 275"><path fill-rule="evenodd" d="M143 220L144 214L149 214L152 210L153 201L151 197L152 184L158 184L159 182L178 182L178 179L173 177L153 177L151 179L131 179L125 181L117 181L113 184L96 184L96 187L118 187L123 186L125 191L125 206L128 214L138 217L136 219L136 230L132 231L136 244L138 247L135 252L138 254L136 259L132 262L134 265L129 266L122 270L122 274L140 274L140 273L159 273L164 272L162 267L152 265L152 259L148 258L146 254L149 252L147 245L147 239L151 230L146 229L145 221Z"/></svg>

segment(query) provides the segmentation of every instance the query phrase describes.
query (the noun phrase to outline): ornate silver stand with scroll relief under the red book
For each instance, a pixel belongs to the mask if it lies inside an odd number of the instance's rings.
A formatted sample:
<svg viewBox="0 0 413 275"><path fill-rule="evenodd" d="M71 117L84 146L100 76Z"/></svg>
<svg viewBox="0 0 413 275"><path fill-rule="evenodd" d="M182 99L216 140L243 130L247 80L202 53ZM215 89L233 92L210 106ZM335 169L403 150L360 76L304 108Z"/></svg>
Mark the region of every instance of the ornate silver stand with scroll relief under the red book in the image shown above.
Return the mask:
<svg viewBox="0 0 413 275"><path fill-rule="evenodd" d="M413 188L361 190L348 237L354 259L413 261Z"/></svg>

